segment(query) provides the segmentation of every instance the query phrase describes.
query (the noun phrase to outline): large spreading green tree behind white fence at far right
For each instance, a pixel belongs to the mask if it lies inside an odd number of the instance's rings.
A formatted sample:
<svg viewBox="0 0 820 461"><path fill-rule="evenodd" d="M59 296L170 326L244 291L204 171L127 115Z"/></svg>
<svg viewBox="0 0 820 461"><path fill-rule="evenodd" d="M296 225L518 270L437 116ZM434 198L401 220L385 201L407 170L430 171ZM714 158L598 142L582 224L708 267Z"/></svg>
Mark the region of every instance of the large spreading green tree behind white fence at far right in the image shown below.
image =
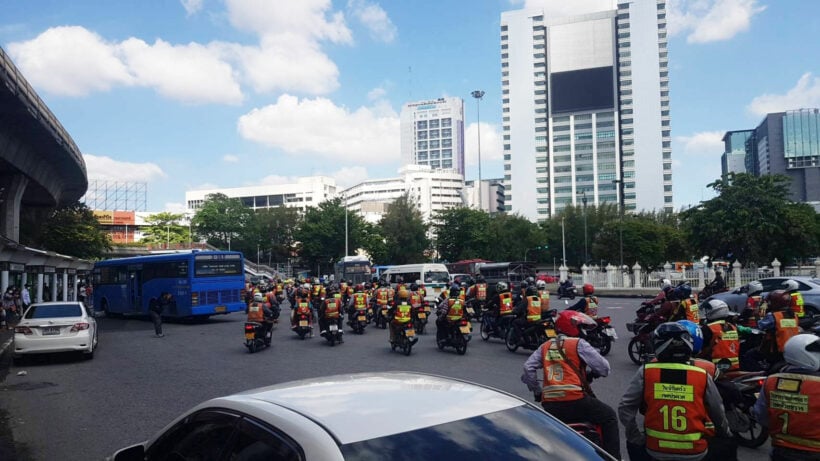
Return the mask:
<svg viewBox="0 0 820 461"><path fill-rule="evenodd" d="M709 184L717 197L681 213L692 248L744 265L816 255L816 213L791 202L790 183L783 175L742 173Z"/></svg>

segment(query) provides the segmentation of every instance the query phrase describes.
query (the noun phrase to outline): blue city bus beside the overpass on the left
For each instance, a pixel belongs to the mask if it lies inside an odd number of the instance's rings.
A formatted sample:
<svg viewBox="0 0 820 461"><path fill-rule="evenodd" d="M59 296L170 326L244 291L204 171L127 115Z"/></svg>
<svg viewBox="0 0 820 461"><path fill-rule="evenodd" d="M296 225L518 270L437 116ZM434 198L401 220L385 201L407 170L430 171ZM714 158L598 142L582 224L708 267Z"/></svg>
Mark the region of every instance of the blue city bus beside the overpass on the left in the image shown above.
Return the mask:
<svg viewBox="0 0 820 461"><path fill-rule="evenodd" d="M192 251L94 264L94 309L147 315L151 298L171 293L164 317L207 317L245 311L245 263L236 251Z"/></svg>

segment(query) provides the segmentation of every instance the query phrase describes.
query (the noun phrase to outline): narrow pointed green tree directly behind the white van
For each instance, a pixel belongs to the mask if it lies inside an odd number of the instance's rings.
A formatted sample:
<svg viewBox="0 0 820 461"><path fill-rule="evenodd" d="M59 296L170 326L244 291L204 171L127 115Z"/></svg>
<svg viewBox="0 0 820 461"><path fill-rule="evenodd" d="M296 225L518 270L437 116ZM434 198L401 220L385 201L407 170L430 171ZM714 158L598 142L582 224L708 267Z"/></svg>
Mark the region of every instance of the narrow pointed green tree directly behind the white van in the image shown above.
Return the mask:
<svg viewBox="0 0 820 461"><path fill-rule="evenodd" d="M420 263L426 260L424 253L430 248L427 225L407 194L388 206L379 227L384 234L387 261L390 264Z"/></svg>

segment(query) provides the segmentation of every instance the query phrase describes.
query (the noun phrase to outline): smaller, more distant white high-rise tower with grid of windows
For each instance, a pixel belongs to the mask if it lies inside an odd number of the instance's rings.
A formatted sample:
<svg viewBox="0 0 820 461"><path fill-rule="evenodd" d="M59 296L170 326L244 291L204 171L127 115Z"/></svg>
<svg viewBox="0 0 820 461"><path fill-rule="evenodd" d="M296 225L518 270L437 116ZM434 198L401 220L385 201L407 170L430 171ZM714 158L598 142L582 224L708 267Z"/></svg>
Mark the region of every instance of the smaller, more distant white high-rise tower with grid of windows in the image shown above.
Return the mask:
<svg viewBox="0 0 820 461"><path fill-rule="evenodd" d="M428 165L464 175L464 100L410 102L401 110L403 165Z"/></svg>

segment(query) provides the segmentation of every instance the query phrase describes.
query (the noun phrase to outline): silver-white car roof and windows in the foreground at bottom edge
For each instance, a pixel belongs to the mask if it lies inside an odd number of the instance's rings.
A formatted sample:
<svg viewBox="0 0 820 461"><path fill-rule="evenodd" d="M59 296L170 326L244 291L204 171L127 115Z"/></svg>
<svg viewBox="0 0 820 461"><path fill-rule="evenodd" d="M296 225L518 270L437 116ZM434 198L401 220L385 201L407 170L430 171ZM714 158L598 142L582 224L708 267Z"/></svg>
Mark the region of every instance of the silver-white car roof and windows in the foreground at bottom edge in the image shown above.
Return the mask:
<svg viewBox="0 0 820 461"><path fill-rule="evenodd" d="M612 458L519 397L441 376L383 372L313 378L215 398L112 459Z"/></svg>

